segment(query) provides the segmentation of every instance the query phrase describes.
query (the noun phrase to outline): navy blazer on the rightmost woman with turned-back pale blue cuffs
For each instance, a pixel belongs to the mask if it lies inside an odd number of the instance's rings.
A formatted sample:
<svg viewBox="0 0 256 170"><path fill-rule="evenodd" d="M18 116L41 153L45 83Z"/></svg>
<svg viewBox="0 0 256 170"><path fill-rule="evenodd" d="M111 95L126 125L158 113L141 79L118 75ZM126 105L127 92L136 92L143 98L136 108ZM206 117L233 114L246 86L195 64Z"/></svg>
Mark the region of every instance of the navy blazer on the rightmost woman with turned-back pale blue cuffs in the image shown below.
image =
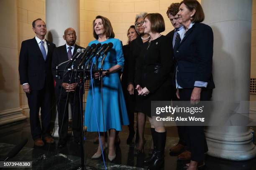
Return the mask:
<svg viewBox="0 0 256 170"><path fill-rule="evenodd" d="M215 88L212 79L212 55L212 28L203 23L195 23L180 44L174 46L178 84L183 88L194 88L195 81L202 81L208 82L208 89Z"/></svg>

